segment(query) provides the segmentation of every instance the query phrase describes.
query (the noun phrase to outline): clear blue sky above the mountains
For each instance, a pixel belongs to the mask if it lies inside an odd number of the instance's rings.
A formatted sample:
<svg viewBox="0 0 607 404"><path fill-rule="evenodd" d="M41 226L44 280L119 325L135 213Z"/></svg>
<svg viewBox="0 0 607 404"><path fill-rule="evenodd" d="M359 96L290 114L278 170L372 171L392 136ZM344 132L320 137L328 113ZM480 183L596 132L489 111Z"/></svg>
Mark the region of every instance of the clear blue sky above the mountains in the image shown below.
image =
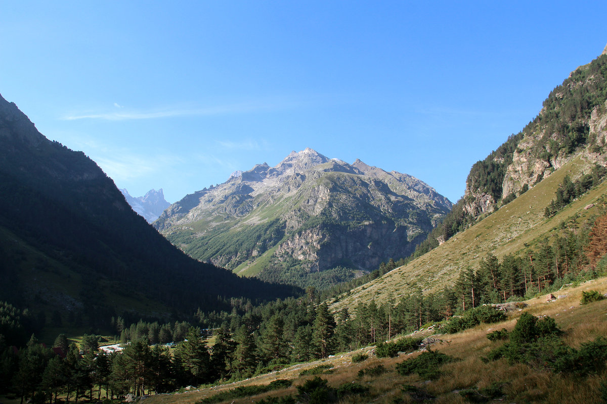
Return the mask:
<svg viewBox="0 0 607 404"><path fill-rule="evenodd" d="M311 147L455 202L605 21L605 1L2 2L0 94L133 196Z"/></svg>

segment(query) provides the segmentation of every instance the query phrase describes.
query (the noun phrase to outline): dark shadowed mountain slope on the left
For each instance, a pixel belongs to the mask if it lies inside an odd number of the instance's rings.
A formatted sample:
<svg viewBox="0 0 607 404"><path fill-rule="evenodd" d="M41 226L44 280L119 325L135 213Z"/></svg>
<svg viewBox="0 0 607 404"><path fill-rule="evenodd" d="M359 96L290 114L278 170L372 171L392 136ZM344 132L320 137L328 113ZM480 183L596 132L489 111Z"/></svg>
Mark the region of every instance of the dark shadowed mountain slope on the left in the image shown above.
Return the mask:
<svg viewBox="0 0 607 404"><path fill-rule="evenodd" d="M0 150L0 300L100 325L123 311L168 317L212 310L221 296L293 293L181 253L95 162L46 139L1 97Z"/></svg>

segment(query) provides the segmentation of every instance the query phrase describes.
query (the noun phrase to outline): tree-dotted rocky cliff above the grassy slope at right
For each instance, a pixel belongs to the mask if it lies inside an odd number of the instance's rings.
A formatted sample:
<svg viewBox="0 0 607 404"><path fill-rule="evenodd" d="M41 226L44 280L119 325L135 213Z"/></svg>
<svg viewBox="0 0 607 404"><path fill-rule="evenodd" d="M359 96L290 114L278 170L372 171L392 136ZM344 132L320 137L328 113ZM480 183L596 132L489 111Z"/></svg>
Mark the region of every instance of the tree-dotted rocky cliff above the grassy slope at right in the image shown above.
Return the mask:
<svg viewBox="0 0 607 404"><path fill-rule="evenodd" d="M605 165L606 143L607 53L603 51L556 87L523 131L472 167L464 211L473 217L492 213L506 196L517 196L578 156L589 166Z"/></svg>

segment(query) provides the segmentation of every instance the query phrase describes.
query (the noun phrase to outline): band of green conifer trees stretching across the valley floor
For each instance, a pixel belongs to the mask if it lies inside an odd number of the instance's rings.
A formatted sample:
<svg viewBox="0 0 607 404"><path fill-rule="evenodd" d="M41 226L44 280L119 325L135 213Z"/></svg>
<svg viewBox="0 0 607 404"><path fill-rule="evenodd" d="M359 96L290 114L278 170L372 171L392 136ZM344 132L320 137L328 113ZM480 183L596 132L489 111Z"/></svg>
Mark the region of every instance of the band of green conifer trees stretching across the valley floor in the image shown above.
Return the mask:
<svg viewBox="0 0 607 404"><path fill-rule="evenodd" d="M410 333L478 308L551 293L576 280L606 273L607 214L560 227L521 256L488 254L478 268L466 268L438 293L421 288L398 300L361 302L351 313L331 313L314 288L299 298L253 305L232 299L232 310L198 310L192 323L137 322L113 325L125 343L122 353L98 353L98 340L84 337L80 348L59 338L65 357L35 337L15 351L0 338L0 389L35 402L168 392L187 385L240 380L291 363L325 358ZM395 265L390 264L390 266ZM10 309L10 308L9 308ZM11 310L17 319L17 312ZM213 329L212 342L204 329ZM163 331L164 330L164 331ZM155 340L180 340L174 349Z"/></svg>

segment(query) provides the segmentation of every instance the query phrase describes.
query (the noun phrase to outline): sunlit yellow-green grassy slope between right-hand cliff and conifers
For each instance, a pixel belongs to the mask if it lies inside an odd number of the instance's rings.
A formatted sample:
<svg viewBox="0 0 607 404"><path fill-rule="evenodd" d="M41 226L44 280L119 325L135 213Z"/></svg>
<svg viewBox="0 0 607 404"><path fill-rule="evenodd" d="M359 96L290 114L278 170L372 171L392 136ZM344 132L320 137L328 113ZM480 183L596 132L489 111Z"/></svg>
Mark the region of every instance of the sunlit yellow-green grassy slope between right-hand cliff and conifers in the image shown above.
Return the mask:
<svg viewBox="0 0 607 404"><path fill-rule="evenodd" d="M342 307L353 308L357 302L398 300L421 286L424 291L436 291L455 282L459 272L467 267L476 268L481 259L492 253L497 257L521 253L561 222L570 218L578 220L594 214L596 208L585 207L607 193L607 181L593 188L571 205L550 219L544 217L544 208L555 197L555 190L563 178L572 178L582 172L588 173L591 164L575 157L568 164L554 171L539 184L501 207L483 220L456 234L447 242L424 256L396 268L378 279L351 291L348 296L339 296L331 307L336 311ZM527 246L527 247L526 247Z"/></svg>

